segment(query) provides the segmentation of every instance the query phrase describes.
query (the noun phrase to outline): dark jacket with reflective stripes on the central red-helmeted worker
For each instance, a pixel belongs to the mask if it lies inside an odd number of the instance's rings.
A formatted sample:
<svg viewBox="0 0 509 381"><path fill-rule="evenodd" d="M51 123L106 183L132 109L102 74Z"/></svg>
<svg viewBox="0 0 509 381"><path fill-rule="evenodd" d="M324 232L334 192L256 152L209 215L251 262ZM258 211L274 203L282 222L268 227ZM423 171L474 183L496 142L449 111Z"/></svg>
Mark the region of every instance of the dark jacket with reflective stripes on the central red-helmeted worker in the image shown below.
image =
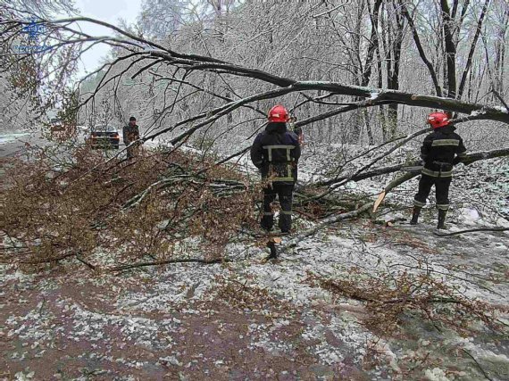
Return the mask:
<svg viewBox="0 0 509 381"><path fill-rule="evenodd" d="M251 161L262 171L262 178L280 184L294 184L300 157L298 137L286 123L269 123L251 147Z"/></svg>

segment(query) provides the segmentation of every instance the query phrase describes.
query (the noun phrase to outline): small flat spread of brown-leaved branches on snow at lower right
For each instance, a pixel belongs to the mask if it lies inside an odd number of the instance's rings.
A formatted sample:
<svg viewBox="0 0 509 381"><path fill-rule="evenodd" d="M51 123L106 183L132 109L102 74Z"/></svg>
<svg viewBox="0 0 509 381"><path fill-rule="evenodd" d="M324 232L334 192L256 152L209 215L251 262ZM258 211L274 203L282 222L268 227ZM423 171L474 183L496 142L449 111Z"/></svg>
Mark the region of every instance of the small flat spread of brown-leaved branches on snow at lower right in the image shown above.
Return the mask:
<svg viewBox="0 0 509 381"><path fill-rule="evenodd" d="M366 327L380 335L389 335L401 327L405 315L418 314L428 319L439 331L452 327L459 332L470 332L475 322L481 322L495 331L506 329L497 315L508 311L488 302L472 300L458 287L447 285L443 279L429 272L381 273L367 277L352 269L352 275L362 277L327 278L310 274L308 281L333 294L365 302Z"/></svg>

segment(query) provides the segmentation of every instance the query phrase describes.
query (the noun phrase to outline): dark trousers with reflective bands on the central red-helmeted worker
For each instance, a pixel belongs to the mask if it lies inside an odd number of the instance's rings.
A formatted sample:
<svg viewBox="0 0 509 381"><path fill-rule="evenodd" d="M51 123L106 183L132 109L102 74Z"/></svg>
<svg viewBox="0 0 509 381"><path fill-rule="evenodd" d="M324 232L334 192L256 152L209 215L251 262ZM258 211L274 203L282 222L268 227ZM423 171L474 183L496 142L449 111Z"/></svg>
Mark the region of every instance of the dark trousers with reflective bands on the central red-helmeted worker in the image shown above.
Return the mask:
<svg viewBox="0 0 509 381"><path fill-rule="evenodd" d="M280 199L280 229L283 233L288 233L292 228L292 194L294 184L284 184L273 182L271 186L263 188L263 217L261 226L264 229L271 230L274 225L274 212L271 203L276 199L276 195Z"/></svg>

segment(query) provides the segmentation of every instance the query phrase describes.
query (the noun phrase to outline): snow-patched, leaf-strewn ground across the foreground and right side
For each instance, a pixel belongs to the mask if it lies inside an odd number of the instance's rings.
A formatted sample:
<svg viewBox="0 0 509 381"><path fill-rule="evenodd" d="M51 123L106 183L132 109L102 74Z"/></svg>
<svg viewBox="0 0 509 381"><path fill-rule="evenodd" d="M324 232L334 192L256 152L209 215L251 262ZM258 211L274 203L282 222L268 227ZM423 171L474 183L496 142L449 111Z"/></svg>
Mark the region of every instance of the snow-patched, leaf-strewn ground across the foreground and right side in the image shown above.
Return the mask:
<svg viewBox="0 0 509 381"><path fill-rule="evenodd" d="M310 149L301 178L321 176L338 149L320 155ZM401 150L383 165L408 154ZM240 163L256 176L246 157ZM507 161L459 172L451 230L506 227L496 211L507 207ZM394 176L338 192L376 195ZM2 264L0 377L507 380L509 233L434 236L431 206L417 227L404 221L386 226L383 221L409 217L415 189L416 179L388 195L379 223L358 219L324 228L268 263L263 240L240 234L225 251L229 262L220 264L116 274L108 271L114 254L101 251L97 271L74 260L39 273ZM311 225L296 217L297 227ZM189 249L179 258L203 255ZM427 275L458 297L499 310L502 328L472 321L471 331L459 332L408 309L395 332L379 332L367 324L366 302L316 281L362 286L388 277L397 283L408 274Z"/></svg>

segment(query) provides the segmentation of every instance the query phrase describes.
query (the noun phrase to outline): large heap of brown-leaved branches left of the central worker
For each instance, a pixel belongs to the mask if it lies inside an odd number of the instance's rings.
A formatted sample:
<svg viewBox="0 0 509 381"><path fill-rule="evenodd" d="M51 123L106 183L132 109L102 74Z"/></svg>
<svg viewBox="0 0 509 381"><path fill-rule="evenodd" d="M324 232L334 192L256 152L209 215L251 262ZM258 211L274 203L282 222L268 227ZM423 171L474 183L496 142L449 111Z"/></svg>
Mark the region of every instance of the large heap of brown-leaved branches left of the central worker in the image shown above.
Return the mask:
<svg viewBox="0 0 509 381"><path fill-rule="evenodd" d="M259 188L238 172L179 150L131 161L81 147L66 165L41 149L37 160L4 162L0 260L46 268L73 257L91 269L150 257L165 261L183 243L221 256L240 225L255 223Z"/></svg>

